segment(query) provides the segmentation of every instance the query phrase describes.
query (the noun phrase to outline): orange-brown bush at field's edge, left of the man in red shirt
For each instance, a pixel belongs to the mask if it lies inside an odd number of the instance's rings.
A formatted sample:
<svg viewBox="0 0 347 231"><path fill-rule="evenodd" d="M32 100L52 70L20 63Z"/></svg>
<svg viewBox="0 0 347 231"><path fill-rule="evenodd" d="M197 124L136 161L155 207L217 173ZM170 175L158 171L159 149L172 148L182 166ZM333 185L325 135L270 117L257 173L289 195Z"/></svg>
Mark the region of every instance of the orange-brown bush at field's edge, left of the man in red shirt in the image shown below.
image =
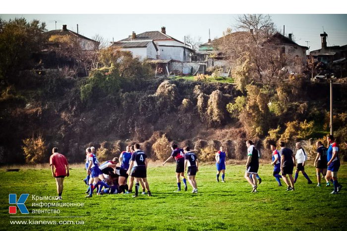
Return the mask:
<svg viewBox="0 0 347 231"><path fill-rule="evenodd" d="M23 139L24 146L22 149L24 151L25 162L30 164L37 164L47 162L46 159L46 146L44 139L39 136L37 139L28 138Z"/></svg>

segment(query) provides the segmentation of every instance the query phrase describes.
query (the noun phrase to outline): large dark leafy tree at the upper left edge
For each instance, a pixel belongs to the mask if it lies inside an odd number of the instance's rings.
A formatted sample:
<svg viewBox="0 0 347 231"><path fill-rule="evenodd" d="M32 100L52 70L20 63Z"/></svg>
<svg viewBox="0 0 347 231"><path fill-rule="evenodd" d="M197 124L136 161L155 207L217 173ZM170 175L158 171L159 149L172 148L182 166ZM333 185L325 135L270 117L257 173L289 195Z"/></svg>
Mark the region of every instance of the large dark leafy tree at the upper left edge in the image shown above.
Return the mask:
<svg viewBox="0 0 347 231"><path fill-rule="evenodd" d="M0 82L7 84L20 70L31 68L32 54L43 45L46 23L25 18L0 19Z"/></svg>

